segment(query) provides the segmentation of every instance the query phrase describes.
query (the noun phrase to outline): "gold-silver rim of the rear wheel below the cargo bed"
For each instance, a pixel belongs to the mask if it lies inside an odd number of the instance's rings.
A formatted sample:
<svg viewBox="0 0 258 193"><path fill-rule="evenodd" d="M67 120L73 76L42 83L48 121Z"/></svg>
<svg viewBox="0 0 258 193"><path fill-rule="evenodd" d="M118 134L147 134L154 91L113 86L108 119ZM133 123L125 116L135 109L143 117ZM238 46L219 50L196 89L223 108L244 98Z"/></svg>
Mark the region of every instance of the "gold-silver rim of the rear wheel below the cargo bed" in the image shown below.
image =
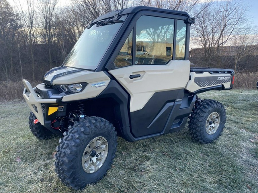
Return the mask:
<svg viewBox="0 0 258 193"><path fill-rule="evenodd" d="M218 127L220 126L220 116L217 112L213 112L208 116L208 119L206 120L206 132L209 135L214 134L217 130Z"/></svg>

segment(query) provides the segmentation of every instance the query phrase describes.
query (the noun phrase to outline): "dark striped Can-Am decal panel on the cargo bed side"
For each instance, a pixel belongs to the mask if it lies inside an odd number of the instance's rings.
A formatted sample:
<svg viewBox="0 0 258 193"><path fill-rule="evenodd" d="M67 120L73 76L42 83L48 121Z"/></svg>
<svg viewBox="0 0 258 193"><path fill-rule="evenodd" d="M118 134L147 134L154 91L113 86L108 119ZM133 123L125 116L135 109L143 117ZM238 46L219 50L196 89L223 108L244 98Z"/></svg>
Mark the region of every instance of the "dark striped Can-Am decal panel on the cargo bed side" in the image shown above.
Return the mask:
<svg viewBox="0 0 258 193"><path fill-rule="evenodd" d="M200 87L220 85L231 81L230 76L195 77L194 83Z"/></svg>

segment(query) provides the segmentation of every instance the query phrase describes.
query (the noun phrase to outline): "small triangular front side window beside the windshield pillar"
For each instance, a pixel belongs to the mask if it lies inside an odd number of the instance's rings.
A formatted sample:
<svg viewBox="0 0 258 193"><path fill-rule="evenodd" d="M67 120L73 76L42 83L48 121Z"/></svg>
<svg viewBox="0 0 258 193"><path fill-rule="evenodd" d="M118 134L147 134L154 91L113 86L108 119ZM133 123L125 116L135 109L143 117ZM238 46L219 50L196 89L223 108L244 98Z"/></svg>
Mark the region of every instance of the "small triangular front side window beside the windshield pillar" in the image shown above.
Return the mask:
<svg viewBox="0 0 258 193"><path fill-rule="evenodd" d="M117 68L132 65L132 31L118 53L114 63Z"/></svg>

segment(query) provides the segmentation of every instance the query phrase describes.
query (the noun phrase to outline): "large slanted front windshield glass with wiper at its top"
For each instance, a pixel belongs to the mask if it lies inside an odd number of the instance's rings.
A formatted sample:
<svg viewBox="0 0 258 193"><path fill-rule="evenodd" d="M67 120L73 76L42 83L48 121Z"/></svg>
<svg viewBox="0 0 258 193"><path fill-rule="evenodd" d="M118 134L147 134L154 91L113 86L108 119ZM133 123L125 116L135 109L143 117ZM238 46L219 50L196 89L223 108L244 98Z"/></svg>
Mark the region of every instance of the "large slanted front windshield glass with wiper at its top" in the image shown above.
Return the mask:
<svg viewBox="0 0 258 193"><path fill-rule="evenodd" d="M119 20L125 19L126 16L122 16ZM122 22L109 23L108 20L102 23L83 31L63 65L90 70L97 68L122 25Z"/></svg>

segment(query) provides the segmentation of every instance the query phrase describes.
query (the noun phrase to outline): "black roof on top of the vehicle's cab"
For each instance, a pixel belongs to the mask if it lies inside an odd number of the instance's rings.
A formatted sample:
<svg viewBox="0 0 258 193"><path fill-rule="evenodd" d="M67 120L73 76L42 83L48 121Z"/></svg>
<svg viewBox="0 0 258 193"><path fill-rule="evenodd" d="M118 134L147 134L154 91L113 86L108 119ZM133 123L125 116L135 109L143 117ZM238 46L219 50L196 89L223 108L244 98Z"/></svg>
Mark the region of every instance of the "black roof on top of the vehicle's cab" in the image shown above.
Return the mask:
<svg viewBox="0 0 258 193"><path fill-rule="evenodd" d="M99 20L114 17L114 15L116 15L117 13L119 13L119 15L125 15L125 14L130 14L130 13L137 13L138 11L155 11L155 12L160 12L160 13L169 13L169 14L176 14L176 15L183 15L186 17L190 17L188 15L188 13L186 13L184 11L175 11L175 10L171 10L171 9L160 9L160 8L156 8L156 7L138 6L138 7L129 7L126 9L119 9L119 10L107 13L105 15L101 15L97 19L95 19L93 21L93 23L95 23Z"/></svg>

